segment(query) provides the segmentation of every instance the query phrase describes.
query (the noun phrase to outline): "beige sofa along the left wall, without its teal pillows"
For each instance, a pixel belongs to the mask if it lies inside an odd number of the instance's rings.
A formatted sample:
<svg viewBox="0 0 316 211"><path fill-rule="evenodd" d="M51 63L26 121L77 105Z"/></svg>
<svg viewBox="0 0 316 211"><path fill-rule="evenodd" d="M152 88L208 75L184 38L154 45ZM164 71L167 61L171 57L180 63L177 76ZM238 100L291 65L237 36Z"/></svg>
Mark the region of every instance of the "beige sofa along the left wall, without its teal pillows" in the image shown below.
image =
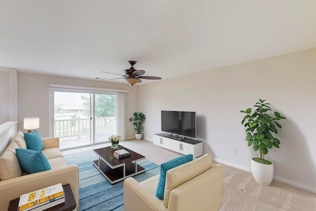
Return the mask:
<svg viewBox="0 0 316 211"><path fill-rule="evenodd" d="M24 135L19 131L0 157L0 208L7 210L11 200L21 194L48 187L57 183L70 184L79 210L79 169L67 165L59 150L59 138L42 138L44 149L51 169L37 173L23 172L15 154L16 148L26 149Z"/></svg>

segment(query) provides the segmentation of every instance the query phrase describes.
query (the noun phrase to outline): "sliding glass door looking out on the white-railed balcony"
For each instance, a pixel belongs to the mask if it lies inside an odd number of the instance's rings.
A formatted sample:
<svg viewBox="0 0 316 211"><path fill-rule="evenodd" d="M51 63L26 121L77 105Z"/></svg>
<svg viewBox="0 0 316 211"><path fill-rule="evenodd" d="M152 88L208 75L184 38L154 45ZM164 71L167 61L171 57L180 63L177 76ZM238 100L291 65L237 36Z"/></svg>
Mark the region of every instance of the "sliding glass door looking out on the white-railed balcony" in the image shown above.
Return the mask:
<svg viewBox="0 0 316 211"><path fill-rule="evenodd" d="M117 133L116 92L54 88L52 133L60 149L104 143Z"/></svg>

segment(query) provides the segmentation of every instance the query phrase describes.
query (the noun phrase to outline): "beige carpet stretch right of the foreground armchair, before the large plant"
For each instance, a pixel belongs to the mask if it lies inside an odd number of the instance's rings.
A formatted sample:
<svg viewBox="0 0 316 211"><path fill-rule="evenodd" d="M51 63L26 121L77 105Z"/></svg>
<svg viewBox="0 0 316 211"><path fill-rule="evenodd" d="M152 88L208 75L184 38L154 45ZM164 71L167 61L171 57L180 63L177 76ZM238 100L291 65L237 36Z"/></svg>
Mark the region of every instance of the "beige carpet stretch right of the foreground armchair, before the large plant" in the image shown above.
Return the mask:
<svg viewBox="0 0 316 211"><path fill-rule="evenodd" d="M220 211L316 211L316 193L276 180L260 185L251 173L225 166Z"/></svg>

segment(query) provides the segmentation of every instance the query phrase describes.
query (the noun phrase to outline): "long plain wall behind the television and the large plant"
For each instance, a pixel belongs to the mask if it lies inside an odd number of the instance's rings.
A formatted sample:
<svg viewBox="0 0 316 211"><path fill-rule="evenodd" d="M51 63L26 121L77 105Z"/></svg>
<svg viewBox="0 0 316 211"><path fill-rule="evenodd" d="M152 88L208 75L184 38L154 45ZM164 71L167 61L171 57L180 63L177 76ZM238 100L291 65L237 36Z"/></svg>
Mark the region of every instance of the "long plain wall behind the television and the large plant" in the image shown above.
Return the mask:
<svg viewBox="0 0 316 211"><path fill-rule="evenodd" d="M139 87L144 137L160 132L161 110L197 112L197 139L215 161L250 171L243 114L259 98L287 119L280 149L269 151L275 178L316 192L316 48ZM237 148L237 154L233 154Z"/></svg>

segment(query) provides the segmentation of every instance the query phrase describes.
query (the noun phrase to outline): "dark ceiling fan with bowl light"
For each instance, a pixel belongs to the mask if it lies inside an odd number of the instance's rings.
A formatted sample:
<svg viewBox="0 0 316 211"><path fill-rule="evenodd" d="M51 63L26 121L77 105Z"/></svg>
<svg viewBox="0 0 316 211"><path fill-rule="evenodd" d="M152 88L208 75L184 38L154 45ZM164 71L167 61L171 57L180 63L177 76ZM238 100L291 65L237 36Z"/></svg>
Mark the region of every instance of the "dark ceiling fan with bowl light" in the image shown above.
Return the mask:
<svg viewBox="0 0 316 211"><path fill-rule="evenodd" d="M110 74L115 74L122 76L123 78L116 78L116 79L125 79L129 84L134 85L136 83L141 83L141 79L149 79L149 80L159 80L161 79L160 77L156 76L143 76L145 74L145 70L136 70L133 66L137 63L136 61L128 61L128 63L131 65L129 69L124 70L124 73L126 75L120 75L116 73L110 73ZM102 73L109 73L109 72L104 72ZM116 79L109 79L109 80L116 80Z"/></svg>

